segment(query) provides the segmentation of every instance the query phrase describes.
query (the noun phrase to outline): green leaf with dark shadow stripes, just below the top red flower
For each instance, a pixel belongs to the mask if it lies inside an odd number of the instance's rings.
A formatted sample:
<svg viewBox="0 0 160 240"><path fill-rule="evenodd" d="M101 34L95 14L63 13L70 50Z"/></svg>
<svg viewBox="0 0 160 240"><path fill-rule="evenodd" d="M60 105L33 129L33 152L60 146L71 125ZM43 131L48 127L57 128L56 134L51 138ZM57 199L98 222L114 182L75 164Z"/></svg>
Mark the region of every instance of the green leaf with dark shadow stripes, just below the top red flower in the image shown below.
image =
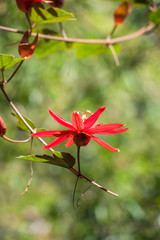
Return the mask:
<svg viewBox="0 0 160 240"><path fill-rule="evenodd" d="M72 13L68 13L59 8L38 8L38 11L35 8L32 8L31 20L36 24L46 24L74 21L76 19L74 18L74 15Z"/></svg>

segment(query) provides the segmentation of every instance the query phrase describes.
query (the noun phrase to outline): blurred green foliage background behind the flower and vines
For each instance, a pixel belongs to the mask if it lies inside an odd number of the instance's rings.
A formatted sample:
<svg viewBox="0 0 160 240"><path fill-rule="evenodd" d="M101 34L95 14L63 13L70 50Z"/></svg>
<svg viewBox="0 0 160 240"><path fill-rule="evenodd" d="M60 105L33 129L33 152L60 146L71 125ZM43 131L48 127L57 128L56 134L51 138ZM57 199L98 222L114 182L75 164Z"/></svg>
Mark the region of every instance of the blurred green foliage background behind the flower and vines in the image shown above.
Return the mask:
<svg viewBox="0 0 160 240"><path fill-rule="evenodd" d="M64 9L75 22L64 23L71 37L105 38L113 27L117 3L102 0L66 0ZM132 33L147 23L146 7L134 8L116 36ZM0 1L0 25L27 29L15 1ZM57 30L57 24L49 25ZM18 56L21 35L0 31L0 51ZM95 142L81 151L82 172L119 194L113 197L91 187L74 209L75 176L68 170L34 163L29 192L20 196L30 177L30 165L16 159L27 155L30 144L0 139L1 240L159 240L160 239L160 84L158 30L120 44L120 66L112 55L77 58L76 51L58 51L44 58L35 55L22 65L6 91L21 113L37 127L62 129L48 108L70 121L72 111L96 111L106 106L99 123L126 123L130 130L103 136L120 153ZM69 60L70 55L70 60ZM69 63L70 62L70 63ZM69 66L70 65L70 66ZM6 72L10 76L13 70ZM7 136L24 139L16 128L11 108L0 94L0 115ZM76 156L75 146L57 151ZM48 153L35 139L33 153ZM76 198L88 187L79 181Z"/></svg>

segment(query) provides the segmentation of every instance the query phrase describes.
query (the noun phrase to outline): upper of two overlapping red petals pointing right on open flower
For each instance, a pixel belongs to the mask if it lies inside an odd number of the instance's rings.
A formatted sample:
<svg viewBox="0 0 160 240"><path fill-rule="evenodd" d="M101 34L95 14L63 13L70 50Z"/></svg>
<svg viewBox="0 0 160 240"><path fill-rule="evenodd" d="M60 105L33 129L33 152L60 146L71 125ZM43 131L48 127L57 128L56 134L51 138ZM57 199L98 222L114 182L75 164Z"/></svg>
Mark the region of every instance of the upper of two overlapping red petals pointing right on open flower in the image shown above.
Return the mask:
<svg viewBox="0 0 160 240"><path fill-rule="evenodd" d="M107 134L106 132L109 130L113 130L116 128L120 128L124 126L124 124L118 124L118 123L112 123L112 124L102 124L102 125L96 125L95 127L89 129L87 133L89 134Z"/></svg>

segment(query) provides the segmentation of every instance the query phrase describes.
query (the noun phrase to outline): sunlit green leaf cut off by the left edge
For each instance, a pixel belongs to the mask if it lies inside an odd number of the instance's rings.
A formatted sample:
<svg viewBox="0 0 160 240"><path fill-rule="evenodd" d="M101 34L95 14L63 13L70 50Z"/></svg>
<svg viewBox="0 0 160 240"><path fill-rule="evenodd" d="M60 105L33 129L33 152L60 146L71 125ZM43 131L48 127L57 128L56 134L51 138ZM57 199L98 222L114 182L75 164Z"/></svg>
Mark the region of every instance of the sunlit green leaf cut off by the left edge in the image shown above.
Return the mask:
<svg viewBox="0 0 160 240"><path fill-rule="evenodd" d="M0 53L0 70L6 71L14 67L17 63L23 61L24 58L14 59L14 56Z"/></svg>

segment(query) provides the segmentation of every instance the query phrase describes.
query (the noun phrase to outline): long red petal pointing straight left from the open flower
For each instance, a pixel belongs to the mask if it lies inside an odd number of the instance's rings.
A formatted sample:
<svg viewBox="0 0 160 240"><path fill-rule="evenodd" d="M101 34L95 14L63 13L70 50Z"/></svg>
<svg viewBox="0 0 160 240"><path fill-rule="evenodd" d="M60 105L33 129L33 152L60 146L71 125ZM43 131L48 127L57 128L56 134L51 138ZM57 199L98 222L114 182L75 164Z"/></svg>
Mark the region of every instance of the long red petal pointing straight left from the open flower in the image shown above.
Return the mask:
<svg viewBox="0 0 160 240"><path fill-rule="evenodd" d="M74 133L71 130L49 130L33 133L33 137L61 137Z"/></svg>

